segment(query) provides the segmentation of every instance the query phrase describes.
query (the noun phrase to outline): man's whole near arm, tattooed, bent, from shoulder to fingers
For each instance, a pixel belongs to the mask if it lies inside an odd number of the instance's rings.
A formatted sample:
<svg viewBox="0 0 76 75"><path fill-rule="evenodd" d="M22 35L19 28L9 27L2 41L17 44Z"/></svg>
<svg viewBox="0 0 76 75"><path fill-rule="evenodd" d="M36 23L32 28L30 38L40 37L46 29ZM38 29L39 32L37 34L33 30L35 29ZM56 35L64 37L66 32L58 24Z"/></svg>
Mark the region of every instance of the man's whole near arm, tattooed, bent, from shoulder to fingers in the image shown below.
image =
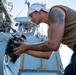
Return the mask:
<svg viewBox="0 0 76 75"><path fill-rule="evenodd" d="M49 39L38 43L28 45L23 42L18 42L19 47L15 48L17 54L26 52L27 50L34 51L57 51L63 38L65 26L65 13L58 7L54 7L49 13L49 29L48 34Z"/></svg>

